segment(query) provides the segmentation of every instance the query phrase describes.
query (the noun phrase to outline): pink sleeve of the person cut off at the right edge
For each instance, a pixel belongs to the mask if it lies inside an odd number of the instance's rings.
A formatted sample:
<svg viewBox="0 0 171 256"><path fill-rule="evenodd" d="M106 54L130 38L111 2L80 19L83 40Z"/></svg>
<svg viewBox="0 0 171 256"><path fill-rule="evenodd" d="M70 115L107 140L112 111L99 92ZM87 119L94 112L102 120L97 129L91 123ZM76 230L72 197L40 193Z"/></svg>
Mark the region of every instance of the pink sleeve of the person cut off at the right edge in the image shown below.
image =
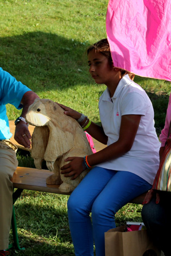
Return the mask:
<svg viewBox="0 0 171 256"><path fill-rule="evenodd" d="M170 120L171 120L171 93L169 97L168 109L166 112L165 126L164 126L164 129L162 129L159 137L161 141L161 147L165 146L166 139L168 138Z"/></svg>

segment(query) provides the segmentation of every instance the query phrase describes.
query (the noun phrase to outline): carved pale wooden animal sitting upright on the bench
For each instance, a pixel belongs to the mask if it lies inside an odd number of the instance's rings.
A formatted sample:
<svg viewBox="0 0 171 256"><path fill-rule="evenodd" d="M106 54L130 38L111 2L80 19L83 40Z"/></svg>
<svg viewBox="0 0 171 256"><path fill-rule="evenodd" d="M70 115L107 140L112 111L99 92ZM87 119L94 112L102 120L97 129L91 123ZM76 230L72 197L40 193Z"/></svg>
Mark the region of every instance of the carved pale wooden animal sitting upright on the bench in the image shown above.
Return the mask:
<svg viewBox="0 0 171 256"><path fill-rule="evenodd" d="M41 169L45 160L48 170L54 173L47 178L47 184L60 184L61 192L73 191L88 170L71 180L61 174L60 168L68 163L64 159L70 156L93 154L81 126L75 119L65 115L59 105L47 99L36 99L28 109L26 120L36 126L31 150L36 168Z"/></svg>

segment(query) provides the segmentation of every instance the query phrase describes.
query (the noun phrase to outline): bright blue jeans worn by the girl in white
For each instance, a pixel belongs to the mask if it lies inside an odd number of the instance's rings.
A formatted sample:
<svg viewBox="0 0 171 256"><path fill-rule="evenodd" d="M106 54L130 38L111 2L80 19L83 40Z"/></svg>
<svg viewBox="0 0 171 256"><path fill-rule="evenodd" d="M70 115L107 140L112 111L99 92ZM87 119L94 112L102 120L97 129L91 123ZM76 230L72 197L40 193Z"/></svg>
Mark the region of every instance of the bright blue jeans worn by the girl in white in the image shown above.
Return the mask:
<svg viewBox="0 0 171 256"><path fill-rule="evenodd" d="M94 167L68 200L69 227L76 256L105 256L105 232L115 228L115 213L151 188L127 171ZM90 218L91 212L91 218Z"/></svg>

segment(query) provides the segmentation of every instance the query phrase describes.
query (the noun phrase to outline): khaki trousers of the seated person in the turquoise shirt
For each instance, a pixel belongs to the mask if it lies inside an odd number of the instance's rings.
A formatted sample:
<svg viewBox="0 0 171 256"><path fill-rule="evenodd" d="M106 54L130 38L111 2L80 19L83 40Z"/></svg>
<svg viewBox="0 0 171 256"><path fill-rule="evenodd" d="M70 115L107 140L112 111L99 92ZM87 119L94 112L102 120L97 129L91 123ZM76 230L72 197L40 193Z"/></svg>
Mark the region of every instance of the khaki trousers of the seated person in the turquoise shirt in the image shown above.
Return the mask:
<svg viewBox="0 0 171 256"><path fill-rule="evenodd" d="M18 166L16 150L17 147L10 141L0 141L0 250L9 247L13 204L10 179Z"/></svg>

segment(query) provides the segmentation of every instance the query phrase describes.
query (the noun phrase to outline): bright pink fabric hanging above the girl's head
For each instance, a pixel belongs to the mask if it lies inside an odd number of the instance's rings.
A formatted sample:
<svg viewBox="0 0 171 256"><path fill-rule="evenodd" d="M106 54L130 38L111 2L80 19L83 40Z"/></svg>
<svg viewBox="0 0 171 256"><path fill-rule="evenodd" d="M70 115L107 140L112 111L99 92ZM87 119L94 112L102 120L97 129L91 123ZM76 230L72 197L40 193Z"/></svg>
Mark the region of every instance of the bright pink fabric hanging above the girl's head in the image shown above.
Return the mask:
<svg viewBox="0 0 171 256"><path fill-rule="evenodd" d="M170 0L110 0L106 31L115 67L171 81Z"/></svg>

